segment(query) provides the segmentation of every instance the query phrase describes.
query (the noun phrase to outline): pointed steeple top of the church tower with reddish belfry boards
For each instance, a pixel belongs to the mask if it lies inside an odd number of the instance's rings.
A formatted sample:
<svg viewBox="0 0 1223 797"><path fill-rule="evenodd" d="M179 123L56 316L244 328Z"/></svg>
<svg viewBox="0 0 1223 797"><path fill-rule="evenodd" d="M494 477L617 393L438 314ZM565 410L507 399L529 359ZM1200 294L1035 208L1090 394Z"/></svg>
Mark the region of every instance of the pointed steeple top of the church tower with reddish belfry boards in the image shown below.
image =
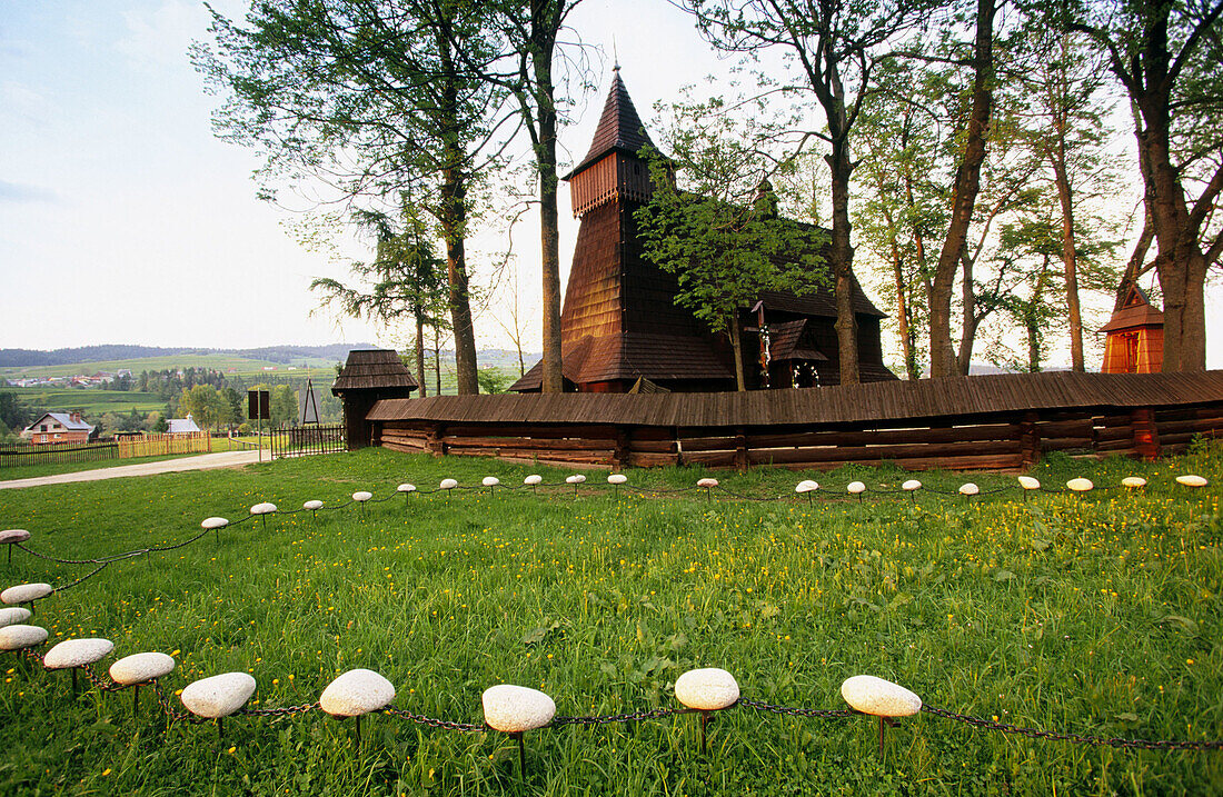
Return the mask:
<svg viewBox="0 0 1223 797"><path fill-rule="evenodd" d="M646 145L653 147L654 142L641 123L616 64L591 149L565 177L570 181L574 215L582 216L618 198L648 202L653 193L649 169L638 156Z"/></svg>

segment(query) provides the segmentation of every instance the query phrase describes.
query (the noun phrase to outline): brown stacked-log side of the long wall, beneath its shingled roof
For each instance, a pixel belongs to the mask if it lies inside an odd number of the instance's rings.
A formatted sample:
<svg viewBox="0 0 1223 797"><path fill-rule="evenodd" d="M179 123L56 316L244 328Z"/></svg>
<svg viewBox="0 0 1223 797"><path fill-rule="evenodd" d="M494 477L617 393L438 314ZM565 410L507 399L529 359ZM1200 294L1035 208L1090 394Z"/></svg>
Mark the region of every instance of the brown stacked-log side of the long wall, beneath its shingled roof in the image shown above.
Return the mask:
<svg viewBox="0 0 1223 797"><path fill-rule="evenodd" d="M374 443L435 456L603 467L702 465L832 469L892 462L907 469L1014 471L1043 454L1155 458L1194 435L1223 436L1223 406L1128 412L1058 410L866 424L658 427L565 423L374 422Z"/></svg>

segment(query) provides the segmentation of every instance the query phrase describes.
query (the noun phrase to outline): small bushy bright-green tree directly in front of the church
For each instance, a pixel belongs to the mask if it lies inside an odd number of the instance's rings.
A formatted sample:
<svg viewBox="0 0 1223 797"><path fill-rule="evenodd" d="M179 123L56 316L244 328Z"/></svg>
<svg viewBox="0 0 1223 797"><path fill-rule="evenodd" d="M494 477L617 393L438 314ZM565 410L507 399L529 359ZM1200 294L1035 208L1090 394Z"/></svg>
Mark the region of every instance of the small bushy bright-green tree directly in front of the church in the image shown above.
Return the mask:
<svg viewBox="0 0 1223 797"><path fill-rule="evenodd" d="M746 390L740 313L764 291L815 290L827 235L778 215L778 197L761 178L785 167L759 154L769 132L742 138L722 100L673 108L664 131L671 156L646 153L654 193L635 214L645 257L676 276L678 304L726 335L735 386Z"/></svg>

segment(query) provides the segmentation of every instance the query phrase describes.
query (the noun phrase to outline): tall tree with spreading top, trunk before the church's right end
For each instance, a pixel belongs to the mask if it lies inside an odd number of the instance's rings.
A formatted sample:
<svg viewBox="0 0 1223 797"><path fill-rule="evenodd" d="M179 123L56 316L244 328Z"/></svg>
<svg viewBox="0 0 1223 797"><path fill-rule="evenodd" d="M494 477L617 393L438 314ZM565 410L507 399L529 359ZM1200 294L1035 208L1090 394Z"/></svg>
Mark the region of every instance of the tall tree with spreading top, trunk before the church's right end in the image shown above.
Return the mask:
<svg viewBox="0 0 1223 797"><path fill-rule="evenodd" d="M854 248L850 242L850 177L855 163L850 133L872 87L878 61L926 16L922 0L879 2L833 0L682 0L701 33L719 50L758 55L773 48L796 65L796 88L812 95L826 128L813 131L828 145L832 181L832 240L828 264L837 298L837 343L841 384L860 380L857 323L852 302Z"/></svg>

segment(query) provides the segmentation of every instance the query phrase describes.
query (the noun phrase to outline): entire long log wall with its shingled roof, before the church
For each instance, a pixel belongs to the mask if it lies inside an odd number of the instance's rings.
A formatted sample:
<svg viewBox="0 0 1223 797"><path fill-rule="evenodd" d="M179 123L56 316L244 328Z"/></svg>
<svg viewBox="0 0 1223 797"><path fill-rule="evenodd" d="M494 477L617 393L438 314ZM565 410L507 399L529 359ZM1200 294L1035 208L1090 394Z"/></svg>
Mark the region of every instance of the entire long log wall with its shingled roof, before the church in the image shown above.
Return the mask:
<svg viewBox="0 0 1223 797"><path fill-rule="evenodd" d="M383 400L394 451L580 466L1019 469L1049 451L1152 460L1223 435L1223 372L999 374L811 390Z"/></svg>

